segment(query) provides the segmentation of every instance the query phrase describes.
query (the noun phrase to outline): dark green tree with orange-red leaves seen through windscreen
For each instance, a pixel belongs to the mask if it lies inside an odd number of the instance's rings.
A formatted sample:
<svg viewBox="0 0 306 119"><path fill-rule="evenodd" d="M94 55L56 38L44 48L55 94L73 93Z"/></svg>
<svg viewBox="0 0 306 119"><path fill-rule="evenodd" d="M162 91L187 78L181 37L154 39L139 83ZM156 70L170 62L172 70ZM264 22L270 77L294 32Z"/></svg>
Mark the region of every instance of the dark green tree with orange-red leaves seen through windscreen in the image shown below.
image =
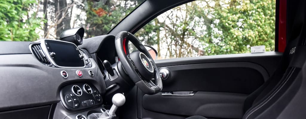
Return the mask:
<svg viewBox="0 0 306 119"><path fill-rule="evenodd" d="M101 2L87 1L86 24L87 37L107 34L126 15L132 12L143 0L105 0Z"/></svg>

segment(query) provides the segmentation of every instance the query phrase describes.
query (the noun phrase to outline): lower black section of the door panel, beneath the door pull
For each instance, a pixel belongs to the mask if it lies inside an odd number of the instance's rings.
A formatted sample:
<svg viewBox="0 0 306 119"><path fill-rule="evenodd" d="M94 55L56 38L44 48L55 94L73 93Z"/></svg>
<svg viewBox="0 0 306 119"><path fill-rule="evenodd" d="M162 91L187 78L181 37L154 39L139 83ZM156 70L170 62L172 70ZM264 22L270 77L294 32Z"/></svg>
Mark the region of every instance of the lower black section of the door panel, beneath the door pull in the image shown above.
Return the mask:
<svg viewBox="0 0 306 119"><path fill-rule="evenodd" d="M143 107L146 110L167 114L241 118L243 103L247 96L239 93L202 91L196 92L193 96L163 96L160 92L155 95L145 94Z"/></svg>

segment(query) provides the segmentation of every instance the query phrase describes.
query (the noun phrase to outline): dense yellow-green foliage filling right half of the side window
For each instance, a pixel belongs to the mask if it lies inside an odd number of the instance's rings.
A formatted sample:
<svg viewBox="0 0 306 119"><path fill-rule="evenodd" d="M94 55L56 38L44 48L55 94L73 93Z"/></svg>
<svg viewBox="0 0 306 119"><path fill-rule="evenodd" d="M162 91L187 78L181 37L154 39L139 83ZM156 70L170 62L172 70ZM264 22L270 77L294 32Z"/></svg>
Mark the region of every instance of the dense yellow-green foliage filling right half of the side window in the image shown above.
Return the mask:
<svg viewBox="0 0 306 119"><path fill-rule="evenodd" d="M203 39L208 44L205 48L208 55L247 53L250 46L259 45L274 51L275 2L243 0L233 1L227 7L216 6L212 21L219 20L214 28L222 33L209 31L211 35ZM214 43L214 38L221 40Z"/></svg>

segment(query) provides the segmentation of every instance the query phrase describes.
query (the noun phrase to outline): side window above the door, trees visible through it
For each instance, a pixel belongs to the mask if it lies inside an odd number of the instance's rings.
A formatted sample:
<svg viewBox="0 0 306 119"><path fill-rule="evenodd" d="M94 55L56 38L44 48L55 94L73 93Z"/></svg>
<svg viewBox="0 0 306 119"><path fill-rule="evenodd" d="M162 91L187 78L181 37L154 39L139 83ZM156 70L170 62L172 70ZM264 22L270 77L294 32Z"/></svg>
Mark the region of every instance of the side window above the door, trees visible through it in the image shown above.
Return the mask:
<svg viewBox="0 0 306 119"><path fill-rule="evenodd" d="M135 36L158 59L250 53L275 47L275 0L197 0L162 13Z"/></svg>

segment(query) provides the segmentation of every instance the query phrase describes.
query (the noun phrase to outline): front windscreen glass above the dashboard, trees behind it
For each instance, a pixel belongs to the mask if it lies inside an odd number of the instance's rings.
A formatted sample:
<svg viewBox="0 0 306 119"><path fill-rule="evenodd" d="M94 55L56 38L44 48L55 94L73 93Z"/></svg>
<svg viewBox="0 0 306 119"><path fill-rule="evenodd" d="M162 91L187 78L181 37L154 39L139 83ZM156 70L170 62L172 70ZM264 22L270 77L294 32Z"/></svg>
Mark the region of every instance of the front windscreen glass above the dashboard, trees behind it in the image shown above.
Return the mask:
<svg viewBox="0 0 306 119"><path fill-rule="evenodd" d="M59 39L84 27L84 38L107 34L144 0L0 0L0 41Z"/></svg>

